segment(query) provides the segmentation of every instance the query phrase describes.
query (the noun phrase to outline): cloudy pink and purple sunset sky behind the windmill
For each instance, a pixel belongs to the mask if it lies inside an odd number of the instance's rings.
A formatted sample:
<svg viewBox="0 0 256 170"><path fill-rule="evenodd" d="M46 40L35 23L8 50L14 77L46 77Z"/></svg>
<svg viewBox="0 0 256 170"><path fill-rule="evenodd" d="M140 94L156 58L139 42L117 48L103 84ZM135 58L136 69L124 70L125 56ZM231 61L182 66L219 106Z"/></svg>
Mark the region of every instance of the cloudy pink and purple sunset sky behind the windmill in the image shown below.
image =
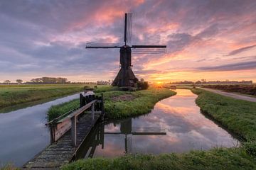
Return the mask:
<svg viewBox="0 0 256 170"><path fill-rule="evenodd" d="M129 45L167 45L166 54L132 55L147 81L256 81L255 0L1 0L0 81L66 77L114 79L124 13L133 13Z"/></svg>

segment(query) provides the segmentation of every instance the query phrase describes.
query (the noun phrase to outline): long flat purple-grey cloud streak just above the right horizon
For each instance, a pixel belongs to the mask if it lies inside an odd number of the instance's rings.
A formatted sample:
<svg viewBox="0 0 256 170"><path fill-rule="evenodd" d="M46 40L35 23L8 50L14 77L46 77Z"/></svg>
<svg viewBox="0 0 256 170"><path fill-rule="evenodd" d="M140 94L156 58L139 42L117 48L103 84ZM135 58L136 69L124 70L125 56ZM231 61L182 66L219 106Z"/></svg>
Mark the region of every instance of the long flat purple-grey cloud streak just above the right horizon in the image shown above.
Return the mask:
<svg viewBox="0 0 256 170"><path fill-rule="evenodd" d="M199 67L198 70L201 71L235 71L235 70L243 70L243 69L256 69L256 62L238 62L232 64L223 64L220 66L213 67Z"/></svg>

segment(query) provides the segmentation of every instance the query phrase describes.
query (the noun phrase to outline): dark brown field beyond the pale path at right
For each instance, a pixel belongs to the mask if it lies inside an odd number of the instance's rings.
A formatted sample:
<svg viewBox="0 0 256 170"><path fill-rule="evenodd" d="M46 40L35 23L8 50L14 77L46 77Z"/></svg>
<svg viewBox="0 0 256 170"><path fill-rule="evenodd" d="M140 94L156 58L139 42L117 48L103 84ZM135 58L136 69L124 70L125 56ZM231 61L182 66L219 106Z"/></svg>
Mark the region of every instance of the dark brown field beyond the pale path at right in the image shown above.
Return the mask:
<svg viewBox="0 0 256 170"><path fill-rule="evenodd" d="M256 96L256 85L203 85L203 87Z"/></svg>

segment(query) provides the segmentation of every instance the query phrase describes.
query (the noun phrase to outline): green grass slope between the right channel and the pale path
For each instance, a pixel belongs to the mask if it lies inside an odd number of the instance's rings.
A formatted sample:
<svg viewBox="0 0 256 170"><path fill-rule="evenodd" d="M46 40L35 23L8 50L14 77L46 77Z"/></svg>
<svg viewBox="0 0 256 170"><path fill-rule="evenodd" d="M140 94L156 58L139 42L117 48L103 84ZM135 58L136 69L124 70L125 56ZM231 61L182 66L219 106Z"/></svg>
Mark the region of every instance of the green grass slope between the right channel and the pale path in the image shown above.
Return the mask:
<svg viewBox="0 0 256 170"><path fill-rule="evenodd" d="M255 102L237 100L202 89L191 89L191 91L198 94L196 103L203 113L207 113L247 140L256 139Z"/></svg>

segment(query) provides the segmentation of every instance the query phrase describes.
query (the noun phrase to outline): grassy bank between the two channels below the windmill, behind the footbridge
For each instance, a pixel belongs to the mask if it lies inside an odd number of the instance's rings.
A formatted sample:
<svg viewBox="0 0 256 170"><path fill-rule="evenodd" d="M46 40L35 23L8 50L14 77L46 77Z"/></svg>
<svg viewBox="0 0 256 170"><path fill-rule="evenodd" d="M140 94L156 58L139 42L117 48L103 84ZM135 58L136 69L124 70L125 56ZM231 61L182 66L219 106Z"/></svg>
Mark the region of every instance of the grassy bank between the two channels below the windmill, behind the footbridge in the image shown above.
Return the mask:
<svg viewBox="0 0 256 170"><path fill-rule="evenodd" d="M176 93L169 89L149 88L143 91L105 91L105 112L108 118L127 118L133 115L149 113L157 101L173 96ZM53 120L79 106L75 99L57 106L48 111L48 120Z"/></svg>

